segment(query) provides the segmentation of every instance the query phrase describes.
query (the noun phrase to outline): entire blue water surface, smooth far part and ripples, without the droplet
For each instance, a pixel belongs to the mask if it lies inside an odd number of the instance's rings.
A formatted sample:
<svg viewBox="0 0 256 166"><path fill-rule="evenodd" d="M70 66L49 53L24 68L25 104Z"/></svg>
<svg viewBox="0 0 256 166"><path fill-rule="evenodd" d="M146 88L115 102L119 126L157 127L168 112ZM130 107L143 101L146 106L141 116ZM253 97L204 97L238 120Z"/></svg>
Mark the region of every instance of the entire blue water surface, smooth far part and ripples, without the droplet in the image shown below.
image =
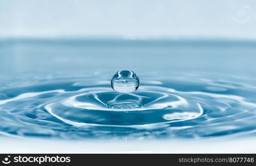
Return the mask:
<svg viewBox="0 0 256 166"><path fill-rule="evenodd" d="M0 133L84 138L254 136L256 43L2 40ZM116 71L140 79L111 88Z"/></svg>

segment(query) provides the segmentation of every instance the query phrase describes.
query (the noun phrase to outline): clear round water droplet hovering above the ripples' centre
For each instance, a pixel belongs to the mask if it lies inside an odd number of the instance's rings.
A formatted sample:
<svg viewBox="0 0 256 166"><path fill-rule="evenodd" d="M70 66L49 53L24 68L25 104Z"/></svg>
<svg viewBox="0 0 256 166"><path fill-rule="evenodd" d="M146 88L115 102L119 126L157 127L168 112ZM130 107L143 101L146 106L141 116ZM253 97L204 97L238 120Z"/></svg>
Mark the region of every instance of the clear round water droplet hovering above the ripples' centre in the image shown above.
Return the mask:
<svg viewBox="0 0 256 166"><path fill-rule="evenodd" d="M120 70L112 77L111 86L117 92L130 93L139 87L139 78L131 70Z"/></svg>

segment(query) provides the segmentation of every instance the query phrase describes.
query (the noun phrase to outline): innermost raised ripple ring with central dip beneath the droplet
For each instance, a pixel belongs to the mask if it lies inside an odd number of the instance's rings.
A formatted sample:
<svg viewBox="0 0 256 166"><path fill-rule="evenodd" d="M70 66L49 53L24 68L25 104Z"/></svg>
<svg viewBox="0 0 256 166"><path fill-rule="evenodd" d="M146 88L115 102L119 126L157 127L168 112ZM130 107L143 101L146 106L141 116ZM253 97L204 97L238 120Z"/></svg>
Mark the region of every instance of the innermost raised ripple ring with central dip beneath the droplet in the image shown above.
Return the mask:
<svg viewBox="0 0 256 166"><path fill-rule="evenodd" d="M120 94L107 87L84 89L84 93L51 103L45 109L71 125L136 126L190 120L202 115L201 106L160 87L141 87ZM65 110L65 111L63 111ZM74 123L75 122L75 123Z"/></svg>

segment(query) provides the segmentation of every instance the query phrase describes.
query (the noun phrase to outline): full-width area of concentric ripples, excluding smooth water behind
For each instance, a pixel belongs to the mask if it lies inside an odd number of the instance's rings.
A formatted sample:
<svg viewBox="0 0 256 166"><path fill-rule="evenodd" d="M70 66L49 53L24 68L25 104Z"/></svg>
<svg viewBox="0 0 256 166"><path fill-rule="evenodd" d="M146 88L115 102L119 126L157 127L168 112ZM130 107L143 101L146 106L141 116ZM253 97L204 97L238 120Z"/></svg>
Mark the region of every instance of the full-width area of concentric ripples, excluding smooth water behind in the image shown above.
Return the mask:
<svg viewBox="0 0 256 166"><path fill-rule="evenodd" d="M254 134L255 80L242 80L145 75L127 94L112 90L101 74L7 81L0 89L0 133L65 139Z"/></svg>

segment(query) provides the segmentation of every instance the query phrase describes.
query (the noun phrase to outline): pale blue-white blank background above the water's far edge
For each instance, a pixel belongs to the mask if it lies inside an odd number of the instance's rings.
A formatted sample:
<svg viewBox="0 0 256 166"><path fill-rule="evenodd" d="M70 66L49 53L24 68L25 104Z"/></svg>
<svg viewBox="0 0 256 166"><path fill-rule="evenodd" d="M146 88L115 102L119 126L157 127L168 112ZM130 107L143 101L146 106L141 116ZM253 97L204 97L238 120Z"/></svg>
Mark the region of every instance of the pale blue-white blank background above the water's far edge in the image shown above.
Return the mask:
<svg viewBox="0 0 256 166"><path fill-rule="evenodd" d="M254 0L1 0L0 38L255 39L255 8Z"/></svg>

